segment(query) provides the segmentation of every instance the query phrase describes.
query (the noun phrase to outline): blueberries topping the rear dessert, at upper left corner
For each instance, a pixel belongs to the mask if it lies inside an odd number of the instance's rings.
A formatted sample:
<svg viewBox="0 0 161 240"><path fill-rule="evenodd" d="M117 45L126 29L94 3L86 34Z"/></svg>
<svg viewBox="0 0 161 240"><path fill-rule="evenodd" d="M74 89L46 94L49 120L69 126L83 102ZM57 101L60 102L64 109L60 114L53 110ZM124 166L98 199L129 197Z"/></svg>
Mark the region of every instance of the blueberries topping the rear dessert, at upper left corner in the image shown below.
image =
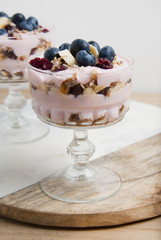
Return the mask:
<svg viewBox="0 0 161 240"><path fill-rule="evenodd" d="M15 26L6 25L5 28L0 29L0 35L6 34L14 28L17 28L18 30L33 31L38 29L39 26L38 20L35 17L29 17L26 19L22 13L16 13L12 17L9 17L5 12L0 12L0 18L1 17L10 19Z"/></svg>

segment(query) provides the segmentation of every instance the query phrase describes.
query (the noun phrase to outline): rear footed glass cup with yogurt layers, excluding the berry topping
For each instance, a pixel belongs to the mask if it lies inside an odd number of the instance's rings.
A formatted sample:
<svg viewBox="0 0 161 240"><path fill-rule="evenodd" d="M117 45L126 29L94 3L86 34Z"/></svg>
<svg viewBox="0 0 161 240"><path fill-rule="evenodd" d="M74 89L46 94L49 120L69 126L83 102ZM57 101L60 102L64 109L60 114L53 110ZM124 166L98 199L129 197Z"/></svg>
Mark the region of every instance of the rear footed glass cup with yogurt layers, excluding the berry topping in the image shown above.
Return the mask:
<svg viewBox="0 0 161 240"><path fill-rule="evenodd" d="M19 38L0 37L0 83L9 86L9 94L1 106L4 115L0 119L1 143L32 142L49 131L45 124L24 116L22 110L27 101L21 93L22 84L28 81L28 57L45 51L54 40L53 28L44 26L49 32L24 33Z"/></svg>

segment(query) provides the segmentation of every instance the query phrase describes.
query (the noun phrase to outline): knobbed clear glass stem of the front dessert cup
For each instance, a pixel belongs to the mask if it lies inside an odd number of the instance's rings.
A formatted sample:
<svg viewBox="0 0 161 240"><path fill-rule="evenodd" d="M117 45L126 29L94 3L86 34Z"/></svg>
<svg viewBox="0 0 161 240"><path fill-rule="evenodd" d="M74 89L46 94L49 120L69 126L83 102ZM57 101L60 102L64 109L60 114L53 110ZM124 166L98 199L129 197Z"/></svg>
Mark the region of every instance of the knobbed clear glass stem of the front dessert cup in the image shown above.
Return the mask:
<svg viewBox="0 0 161 240"><path fill-rule="evenodd" d="M89 141L86 130L74 130L73 140L67 153L74 158L74 164L66 171L66 177L72 180L90 180L95 175L89 158L95 152L94 145Z"/></svg>

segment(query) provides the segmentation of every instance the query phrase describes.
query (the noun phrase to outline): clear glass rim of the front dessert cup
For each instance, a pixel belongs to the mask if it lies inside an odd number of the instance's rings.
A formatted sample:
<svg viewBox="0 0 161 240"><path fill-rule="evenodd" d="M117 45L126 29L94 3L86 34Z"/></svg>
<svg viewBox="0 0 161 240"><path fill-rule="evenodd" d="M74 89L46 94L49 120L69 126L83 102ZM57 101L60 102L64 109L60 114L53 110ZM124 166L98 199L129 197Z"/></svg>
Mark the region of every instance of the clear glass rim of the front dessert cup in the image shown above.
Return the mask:
<svg viewBox="0 0 161 240"><path fill-rule="evenodd" d="M103 72L97 72L97 75L98 75L98 76L99 76L99 75L101 75L101 76L102 76L102 75L107 75L107 74L115 74L115 73L117 73L117 72L119 72L119 71L128 69L128 68L130 68L131 66L133 66L133 64L134 64L134 59L133 59L133 57L131 57L131 56L129 56L129 55L123 55L123 54L121 54L121 53L117 53L117 55L128 59L128 60L129 60L129 64L128 64L127 66L122 66L122 67L120 67L120 68L112 68L112 69L102 69L102 68L98 68L98 69L103 70ZM64 75L64 74L65 74L64 72L65 72L67 69L62 70L62 71L58 71L58 72L51 72L50 70L42 70L42 69L33 67L33 66L30 64L30 61L31 61L32 59L34 59L34 58L36 58L36 57L40 57L40 56L43 58L42 53L38 53L38 54L34 54L34 55L30 56L30 57L28 58L28 68L31 68L32 70L34 70L34 71L36 71L36 72L40 72L40 73L43 73L43 74L45 74L45 75L50 75L50 76L52 75L52 76L58 76L58 77L60 77L61 75ZM92 67L92 66L91 66L91 67ZM95 67L95 66L93 66L93 67ZM78 72L77 69L79 69L79 67L78 67L78 68L75 68L75 70L76 70L75 72L73 72L73 73L66 73L66 75L67 75L67 76L68 76L68 75L71 76L72 74L77 73L77 72ZM94 69L94 71L95 71L95 69ZM63 73L63 74L61 74L61 73ZM83 73L83 72L81 72L81 76L83 76L83 75L89 75L89 74L91 74L91 73L92 73L92 71L91 71L90 73Z"/></svg>

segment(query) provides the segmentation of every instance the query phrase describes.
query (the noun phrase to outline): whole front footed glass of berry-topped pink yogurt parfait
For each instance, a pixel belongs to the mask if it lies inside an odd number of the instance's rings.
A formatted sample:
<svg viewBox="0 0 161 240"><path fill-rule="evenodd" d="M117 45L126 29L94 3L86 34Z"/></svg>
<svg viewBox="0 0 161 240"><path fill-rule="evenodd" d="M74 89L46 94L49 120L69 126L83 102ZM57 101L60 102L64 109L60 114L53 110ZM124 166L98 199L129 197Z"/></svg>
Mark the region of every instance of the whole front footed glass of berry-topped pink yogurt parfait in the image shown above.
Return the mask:
<svg viewBox="0 0 161 240"><path fill-rule="evenodd" d="M87 130L123 119L129 109L132 67L131 57L83 39L30 59L32 107L38 118L74 131L67 147L74 164L42 179L41 188L48 196L72 203L96 202L121 188L117 173L89 162L95 147Z"/></svg>

